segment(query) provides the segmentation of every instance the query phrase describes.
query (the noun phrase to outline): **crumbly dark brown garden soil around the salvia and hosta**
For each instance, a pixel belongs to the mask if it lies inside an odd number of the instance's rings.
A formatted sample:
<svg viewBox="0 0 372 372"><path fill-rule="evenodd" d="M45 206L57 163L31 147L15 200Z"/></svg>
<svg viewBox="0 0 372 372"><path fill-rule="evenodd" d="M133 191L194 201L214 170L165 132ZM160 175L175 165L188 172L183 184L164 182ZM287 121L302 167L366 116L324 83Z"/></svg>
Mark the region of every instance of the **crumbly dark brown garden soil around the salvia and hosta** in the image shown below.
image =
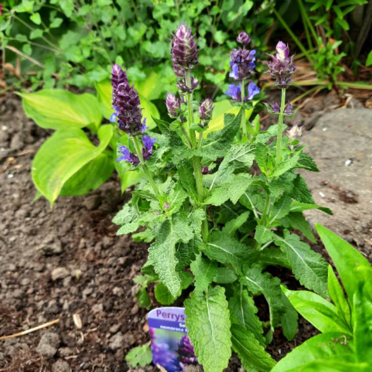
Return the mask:
<svg viewBox="0 0 372 372"><path fill-rule="evenodd" d="M116 236L111 219L125 196L119 181L112 178L86 196L61 197L53 208L45 199L32 203L31 161L49 133L25 118L14 96L0 97L0 117L0 336L60 319L0 341L0 372L129 371L125 354L148 341L146 310L138 308L132 282L147 246ZM47 248L62 252L42 255ZM52 280L56 268L62 268L61 278ZM290 287L299 288L285 275ZM52 357L36 351L46 332L59 338ZM316 333L301 319L293 341L277 331L268 350L280 359ZM238 370L232 358L228 371Z"/></svg>

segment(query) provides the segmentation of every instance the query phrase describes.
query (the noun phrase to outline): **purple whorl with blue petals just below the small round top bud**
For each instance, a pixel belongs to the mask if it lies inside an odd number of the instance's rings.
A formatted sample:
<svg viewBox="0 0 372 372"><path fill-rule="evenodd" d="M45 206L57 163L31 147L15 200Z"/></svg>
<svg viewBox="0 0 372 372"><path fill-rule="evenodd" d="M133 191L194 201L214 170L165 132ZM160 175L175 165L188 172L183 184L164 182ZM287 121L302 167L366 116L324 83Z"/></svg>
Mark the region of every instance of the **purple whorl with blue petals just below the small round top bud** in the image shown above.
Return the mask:
<svg viewBox="0 0 372 372"><path fill-rule="evenodd" d="M251 51L246 48L233 49L230 56L231 71L229 76L239 81L248 79L256 66L254 63L256 60L255 54L256 51L254 49Z"/></svg>

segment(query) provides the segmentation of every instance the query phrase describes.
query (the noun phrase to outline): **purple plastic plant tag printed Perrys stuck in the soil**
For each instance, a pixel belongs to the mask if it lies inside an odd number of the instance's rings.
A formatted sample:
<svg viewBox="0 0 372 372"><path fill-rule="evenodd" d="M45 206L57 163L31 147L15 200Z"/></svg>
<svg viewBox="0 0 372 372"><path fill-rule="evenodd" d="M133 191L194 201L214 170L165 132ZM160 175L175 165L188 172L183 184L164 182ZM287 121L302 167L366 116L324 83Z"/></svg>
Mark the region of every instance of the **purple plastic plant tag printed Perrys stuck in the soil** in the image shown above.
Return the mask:
<svg viewBox="0 0 372 372"><path fill-rule="evenodd" d="M148 313L152 361L167 372L183 372L197 365L194 348L187 337L184 308L158 308Z"/></svg>

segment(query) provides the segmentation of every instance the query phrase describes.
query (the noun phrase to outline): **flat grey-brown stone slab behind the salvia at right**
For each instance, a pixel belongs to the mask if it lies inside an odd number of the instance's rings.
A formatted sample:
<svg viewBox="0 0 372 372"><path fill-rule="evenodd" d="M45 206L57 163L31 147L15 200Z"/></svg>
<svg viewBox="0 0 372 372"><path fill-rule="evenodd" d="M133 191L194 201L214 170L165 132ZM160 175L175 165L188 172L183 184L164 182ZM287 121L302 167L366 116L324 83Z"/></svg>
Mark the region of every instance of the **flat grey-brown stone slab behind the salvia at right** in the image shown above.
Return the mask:
<svg viewBox="0 0 372 372"><path fill-rule="evenodd" d="M326 113L302 143L320 171L302 175L315 202L333 211L307 211L310 223L328 227L372 260L372 110Z"/></svg>

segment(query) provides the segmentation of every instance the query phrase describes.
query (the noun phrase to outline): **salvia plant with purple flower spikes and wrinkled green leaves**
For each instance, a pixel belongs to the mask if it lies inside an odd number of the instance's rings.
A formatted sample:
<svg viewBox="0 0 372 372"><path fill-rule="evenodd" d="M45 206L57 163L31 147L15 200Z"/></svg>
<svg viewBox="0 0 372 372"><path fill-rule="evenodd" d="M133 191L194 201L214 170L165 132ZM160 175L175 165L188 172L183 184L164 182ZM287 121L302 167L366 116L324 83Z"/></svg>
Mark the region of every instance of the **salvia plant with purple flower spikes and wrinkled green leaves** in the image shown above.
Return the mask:
<svg viewBox="0 0 372 372"><path fill-rule="evenodd" d="M199 84L193 76L198 47L181 24L173 35L171 56L178 94L166 96L172 122L154 118L146 129L136 91L118 65L112 69L115 120L129 141L118 147L118 162L146 176L114 218L118 234L151 243L142 267L137 298L151 305L148 283L156 283L156 300L170 305L188 289L184 301L188 337L206 372L223 371L232 351L247 371L269 371L275 362L265 352L275 328L289 340L297 331L297 312L281 290L275 267L292 270L306 288L327 296L327 263L302 241L314 242L303 211L318 208L299 169L318 171L300 144L302 128L286 131L284 119L295 108L285 95L296 70L288 45L279 42L267 62L282 92L281 102L267 104L278 123L260 131L246 112L259 88L252 80L255 51L241 33L241 47L231 53L226 92L237 115L226 114L224 127L206 135L213 102L193 99ZM267 313L259 318L256 296ZM182 347L182 350L187 348ZM181 350L180 349L180 350Z"/></svg>

